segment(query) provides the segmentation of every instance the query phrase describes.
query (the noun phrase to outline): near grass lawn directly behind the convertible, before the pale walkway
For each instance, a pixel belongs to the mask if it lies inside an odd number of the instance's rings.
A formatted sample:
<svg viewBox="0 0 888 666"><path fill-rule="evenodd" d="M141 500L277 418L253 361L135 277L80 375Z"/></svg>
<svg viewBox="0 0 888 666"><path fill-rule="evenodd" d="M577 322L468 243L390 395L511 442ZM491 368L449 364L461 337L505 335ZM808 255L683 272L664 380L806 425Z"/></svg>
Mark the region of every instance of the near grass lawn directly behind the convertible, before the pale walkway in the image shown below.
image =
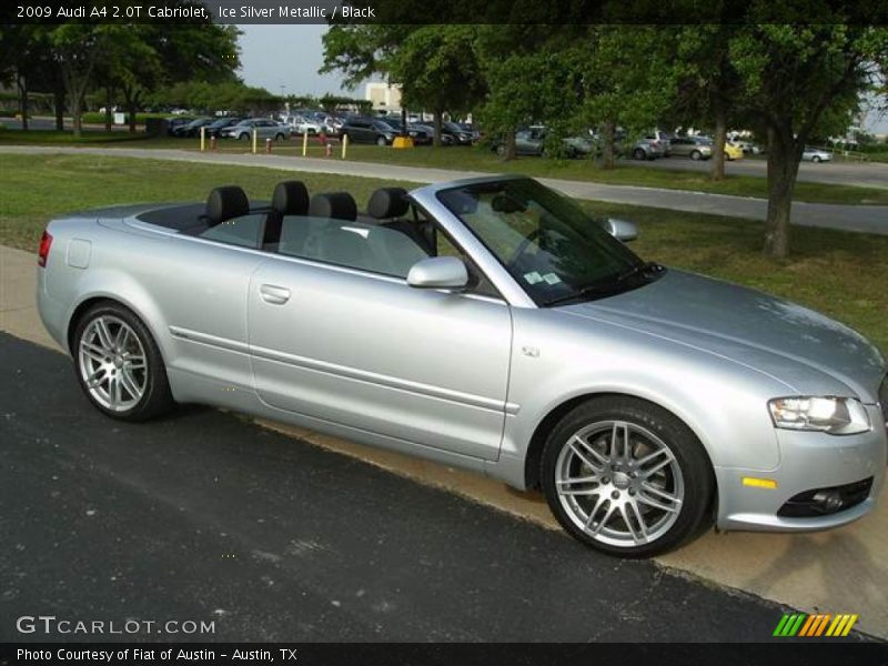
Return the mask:
<svg viewBox="0 0 888 666"><path fill-rule="evenodd" d="M274 184L299 178L310 192L349 190L364 208L390 181L293 173L248 167L188 164L92 155L3 155L0 244L36 251L59 213L139 202L203 200L210 189L239 183L268 199ZM410 188L410 184L402 183ZM793 255L761 255L760 222L649 208L582 202L592 212L634 220L633 249L669 266L731 280L791 299L857 329L888 352L888 236L794 228Z"/></svg>

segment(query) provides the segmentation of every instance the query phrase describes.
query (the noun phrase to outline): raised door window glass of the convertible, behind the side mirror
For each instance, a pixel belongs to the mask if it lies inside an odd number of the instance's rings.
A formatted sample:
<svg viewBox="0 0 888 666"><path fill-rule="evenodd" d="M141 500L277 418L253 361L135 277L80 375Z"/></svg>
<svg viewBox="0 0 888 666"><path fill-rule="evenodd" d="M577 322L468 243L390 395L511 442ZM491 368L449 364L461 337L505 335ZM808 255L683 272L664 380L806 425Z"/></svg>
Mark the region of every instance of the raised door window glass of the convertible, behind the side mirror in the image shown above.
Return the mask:
<svg viewBox="0 0 888 666"><path fill-rule="evenodd" d="M406 233L377 224L285 216L280 254L405 279L428 254Z"/></svg>

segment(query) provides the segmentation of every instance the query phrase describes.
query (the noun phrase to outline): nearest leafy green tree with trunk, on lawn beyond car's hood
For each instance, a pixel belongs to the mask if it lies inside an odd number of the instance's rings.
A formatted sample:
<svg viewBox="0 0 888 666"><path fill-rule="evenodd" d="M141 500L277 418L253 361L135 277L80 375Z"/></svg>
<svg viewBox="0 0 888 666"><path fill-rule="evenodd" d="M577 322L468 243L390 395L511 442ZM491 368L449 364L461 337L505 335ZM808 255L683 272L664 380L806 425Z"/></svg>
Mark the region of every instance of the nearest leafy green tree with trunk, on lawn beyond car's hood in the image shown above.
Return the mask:
<svg viewBox="0 0 888 666"><path fill-rule="evenodd" d="M845 131L860 94L888 61L888 29L842 23L840 13L819 9L823 23L776 23L768 22L775 20L773 8L757 2L749 12L757 22L728 47L746 103L767 135L765 253L778 259L789 251L793 190L805 144Z"/></svg>

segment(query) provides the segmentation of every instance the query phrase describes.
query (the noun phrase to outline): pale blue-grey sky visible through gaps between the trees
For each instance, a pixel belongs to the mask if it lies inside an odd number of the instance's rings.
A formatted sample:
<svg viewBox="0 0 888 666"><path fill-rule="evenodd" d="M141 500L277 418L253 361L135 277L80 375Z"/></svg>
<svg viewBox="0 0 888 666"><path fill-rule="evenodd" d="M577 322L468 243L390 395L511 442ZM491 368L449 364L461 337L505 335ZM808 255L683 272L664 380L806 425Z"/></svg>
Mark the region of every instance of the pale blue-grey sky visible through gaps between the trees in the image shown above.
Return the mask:
<svg viewBox="0 0 888 666"><path fill-rule="evenodd" d="M323 64L321 38L327 26L239 26L243 31L241 75L248 85L260 85L280 94L313 94L325 92L363 98L364 87L344 90L339 73L317 73ZM283 87L283 88L282 88ZM874 133L888 132L888 114L872 111L864 129Z"/></svg>

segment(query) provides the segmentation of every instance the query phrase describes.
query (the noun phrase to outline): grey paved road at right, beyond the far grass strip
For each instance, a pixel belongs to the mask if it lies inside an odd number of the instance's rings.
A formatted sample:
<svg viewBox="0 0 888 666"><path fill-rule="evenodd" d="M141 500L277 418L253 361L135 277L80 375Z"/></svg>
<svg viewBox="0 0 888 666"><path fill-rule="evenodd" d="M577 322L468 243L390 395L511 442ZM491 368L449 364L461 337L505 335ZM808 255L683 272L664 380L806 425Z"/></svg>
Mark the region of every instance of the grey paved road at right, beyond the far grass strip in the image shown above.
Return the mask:
<svg viewBox="0 0 888 666"><path fill-rule="evenodd" d="M667 158L665 160L653 160L646 162L632 162L639 167L650 169L666 169L673 171L700 171L708 172L712 163L709 161L695 162L686 158ZM736 175L757 175L767 176L767 160L759 158L748 158L726 164L728 173ZM803 162L798 170L798 180L816 183L831 183L837 185L857 185L860 188L888 189L888 163L884 162L824 162L814 164Z"/></svg>

